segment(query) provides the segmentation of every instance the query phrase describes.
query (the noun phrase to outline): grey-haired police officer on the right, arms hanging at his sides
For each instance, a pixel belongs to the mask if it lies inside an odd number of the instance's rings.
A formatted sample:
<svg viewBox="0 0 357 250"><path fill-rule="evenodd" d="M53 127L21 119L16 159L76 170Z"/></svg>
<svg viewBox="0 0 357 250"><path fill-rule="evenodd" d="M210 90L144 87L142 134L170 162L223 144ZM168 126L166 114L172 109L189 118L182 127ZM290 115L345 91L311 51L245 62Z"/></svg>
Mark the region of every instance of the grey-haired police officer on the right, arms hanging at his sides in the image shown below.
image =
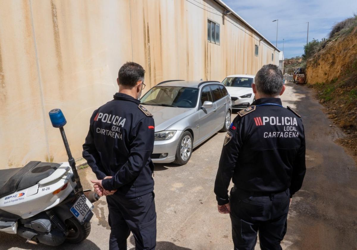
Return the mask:
<svg viewBox="0 0 357 250"><path fill-rule="evenodd" d="M281 249L290 201L305 176L300 116L282 106L283 75L264 65L252 84L256 101L228 130L215 181L218 211L230 213L234 249ZM228 196L228 186L233 188Z"/></svg>

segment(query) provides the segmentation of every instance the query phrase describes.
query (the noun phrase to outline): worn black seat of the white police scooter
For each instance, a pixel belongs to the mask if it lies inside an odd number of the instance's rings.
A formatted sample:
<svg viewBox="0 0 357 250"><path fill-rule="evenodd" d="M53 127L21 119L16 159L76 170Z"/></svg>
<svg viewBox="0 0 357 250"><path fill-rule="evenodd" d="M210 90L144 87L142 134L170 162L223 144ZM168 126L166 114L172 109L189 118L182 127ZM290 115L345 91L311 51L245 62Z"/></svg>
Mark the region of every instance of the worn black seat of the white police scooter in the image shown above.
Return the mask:
<svg viewBox="0 0 357 250"><path fill-rule="evenodd" d="M0 170L0 197L35 185L59 166L58 163L30 161L24 167Z"/></svg>

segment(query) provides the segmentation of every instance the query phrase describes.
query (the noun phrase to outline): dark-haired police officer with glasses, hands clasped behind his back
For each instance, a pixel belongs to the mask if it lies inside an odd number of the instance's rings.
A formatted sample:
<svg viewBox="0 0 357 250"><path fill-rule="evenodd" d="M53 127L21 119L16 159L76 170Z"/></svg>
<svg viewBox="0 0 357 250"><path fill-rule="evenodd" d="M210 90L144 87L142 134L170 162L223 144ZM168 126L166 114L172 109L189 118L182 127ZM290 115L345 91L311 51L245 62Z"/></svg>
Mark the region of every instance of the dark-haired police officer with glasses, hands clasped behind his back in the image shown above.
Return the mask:
<svg viewBox="0 0 357 250"><path fill-rule="evenodd" d="M130 231L135 249L156 246L154 202L154 119L138 98L145 70L135 62L118 74L119 92L93 112L83 157L96 174L95 191L105 195L111 227L109 249L127 249Z"/></svg>

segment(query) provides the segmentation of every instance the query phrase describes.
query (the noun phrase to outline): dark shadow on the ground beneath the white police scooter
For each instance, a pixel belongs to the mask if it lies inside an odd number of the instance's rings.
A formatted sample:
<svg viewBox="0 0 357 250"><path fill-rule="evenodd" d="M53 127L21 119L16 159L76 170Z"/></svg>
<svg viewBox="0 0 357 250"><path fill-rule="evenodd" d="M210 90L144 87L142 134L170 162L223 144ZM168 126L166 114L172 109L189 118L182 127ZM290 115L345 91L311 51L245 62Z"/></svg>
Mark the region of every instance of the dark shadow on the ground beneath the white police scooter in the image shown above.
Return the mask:
<svg viewBox="0 0 357 250"><path fill-rule="evenodd" d="M0 250L8 250L13 248L20 248L20 249L36 249L36 250L68 250L68 249L76 249L76 250L100 250L100 248L93 243L92 241L86 239L82 241L80 244L67 244L64 243L60 246L47 246L44 244L31 244L26 243L26 239L21 238L18 235L14 234L6 234L0 232Z"/></svg>

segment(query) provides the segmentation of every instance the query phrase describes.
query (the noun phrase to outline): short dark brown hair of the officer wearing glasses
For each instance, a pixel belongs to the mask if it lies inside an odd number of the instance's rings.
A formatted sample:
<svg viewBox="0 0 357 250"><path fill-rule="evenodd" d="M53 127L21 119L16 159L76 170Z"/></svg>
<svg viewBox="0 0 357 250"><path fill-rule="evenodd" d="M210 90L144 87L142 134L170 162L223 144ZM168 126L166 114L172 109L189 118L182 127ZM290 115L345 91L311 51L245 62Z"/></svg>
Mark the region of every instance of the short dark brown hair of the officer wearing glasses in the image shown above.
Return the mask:
<svg viewBox="0 0 357 250"><path fill-rule="evenodd" d="M144 81L144 75L145 70L140 64L136 62L126 62L121 66L118 73L119 84L131 89L135 87L138 81Z"/></svg>

